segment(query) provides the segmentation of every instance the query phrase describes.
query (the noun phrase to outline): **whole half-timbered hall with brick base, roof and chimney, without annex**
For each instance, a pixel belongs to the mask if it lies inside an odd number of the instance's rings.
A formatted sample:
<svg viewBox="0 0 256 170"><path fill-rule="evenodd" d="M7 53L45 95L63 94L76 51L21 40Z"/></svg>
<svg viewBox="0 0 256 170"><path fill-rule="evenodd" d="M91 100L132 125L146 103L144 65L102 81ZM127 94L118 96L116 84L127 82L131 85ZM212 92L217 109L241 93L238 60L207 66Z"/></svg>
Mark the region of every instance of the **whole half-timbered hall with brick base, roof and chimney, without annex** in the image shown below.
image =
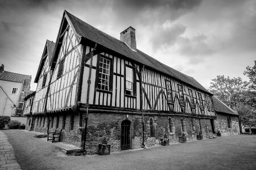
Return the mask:
<svg viewBox="0 0 256 170"><path fill-rule="evenodd" d="M63 129L62 141L97 151L157 145L167 136L215 132L212 94L191 76L136 48L135 29L120 40L64 11L56 43L46 42L35 83L33 130Z"/></svg>

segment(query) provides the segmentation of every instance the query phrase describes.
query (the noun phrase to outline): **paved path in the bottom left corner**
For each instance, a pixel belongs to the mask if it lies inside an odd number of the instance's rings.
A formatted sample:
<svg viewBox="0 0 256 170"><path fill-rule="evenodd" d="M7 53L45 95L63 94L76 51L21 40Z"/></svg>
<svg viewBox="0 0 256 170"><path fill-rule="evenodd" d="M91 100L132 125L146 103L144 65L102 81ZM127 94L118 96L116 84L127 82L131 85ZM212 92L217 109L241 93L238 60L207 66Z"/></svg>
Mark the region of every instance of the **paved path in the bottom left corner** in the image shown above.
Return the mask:
<svg viewBox="0 0 256 170"><path fill-rule="evenodd" d="M8 142L5 133L0 130L0 170L20 169L15 158L13 146Z"/></svg>

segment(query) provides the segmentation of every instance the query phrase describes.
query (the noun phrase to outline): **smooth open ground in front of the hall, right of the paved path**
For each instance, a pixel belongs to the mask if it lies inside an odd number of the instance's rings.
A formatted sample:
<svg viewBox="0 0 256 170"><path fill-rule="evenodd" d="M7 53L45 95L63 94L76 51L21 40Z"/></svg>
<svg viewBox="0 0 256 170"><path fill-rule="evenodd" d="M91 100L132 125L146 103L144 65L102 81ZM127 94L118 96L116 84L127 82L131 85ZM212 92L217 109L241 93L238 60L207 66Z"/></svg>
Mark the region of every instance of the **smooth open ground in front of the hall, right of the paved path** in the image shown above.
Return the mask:
<svg viewBox="0 0 256 170"><path fill-rule="evenodd" d="M64 156L51 142L3 131L22 169L256 169L256 135L218 137L105 156Z"/></svg>

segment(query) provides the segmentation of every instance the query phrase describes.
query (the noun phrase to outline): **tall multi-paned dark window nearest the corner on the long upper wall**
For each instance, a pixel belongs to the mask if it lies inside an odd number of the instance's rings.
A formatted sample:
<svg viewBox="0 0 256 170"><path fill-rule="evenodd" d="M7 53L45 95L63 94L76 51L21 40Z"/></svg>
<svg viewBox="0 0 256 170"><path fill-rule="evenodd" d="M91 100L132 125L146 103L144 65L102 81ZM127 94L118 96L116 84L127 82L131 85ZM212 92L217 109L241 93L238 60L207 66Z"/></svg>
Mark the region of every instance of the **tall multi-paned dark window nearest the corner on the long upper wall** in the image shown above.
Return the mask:
<svg viewBox="0 0 256 170"><path fill-rule="evenodd" d="M98 89L109 91L110 59L100 57L98 69Z"/></svg>

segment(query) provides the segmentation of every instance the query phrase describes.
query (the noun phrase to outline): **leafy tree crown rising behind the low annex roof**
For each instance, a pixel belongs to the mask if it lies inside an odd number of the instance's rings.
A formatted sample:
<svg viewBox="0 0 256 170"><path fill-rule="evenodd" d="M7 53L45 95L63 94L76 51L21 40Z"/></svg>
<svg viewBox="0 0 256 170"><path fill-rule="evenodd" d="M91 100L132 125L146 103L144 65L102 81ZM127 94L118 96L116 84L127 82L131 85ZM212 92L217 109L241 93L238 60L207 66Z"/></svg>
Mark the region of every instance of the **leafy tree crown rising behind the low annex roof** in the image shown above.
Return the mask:
<svg viewBox="0 0 256 170"><path fill-rule="evenodd" d="M230 79L229 76L217 75L210 84L209 91L231 108L245 100L243 93L247 91L248 83L240 77Z"/></svg>

